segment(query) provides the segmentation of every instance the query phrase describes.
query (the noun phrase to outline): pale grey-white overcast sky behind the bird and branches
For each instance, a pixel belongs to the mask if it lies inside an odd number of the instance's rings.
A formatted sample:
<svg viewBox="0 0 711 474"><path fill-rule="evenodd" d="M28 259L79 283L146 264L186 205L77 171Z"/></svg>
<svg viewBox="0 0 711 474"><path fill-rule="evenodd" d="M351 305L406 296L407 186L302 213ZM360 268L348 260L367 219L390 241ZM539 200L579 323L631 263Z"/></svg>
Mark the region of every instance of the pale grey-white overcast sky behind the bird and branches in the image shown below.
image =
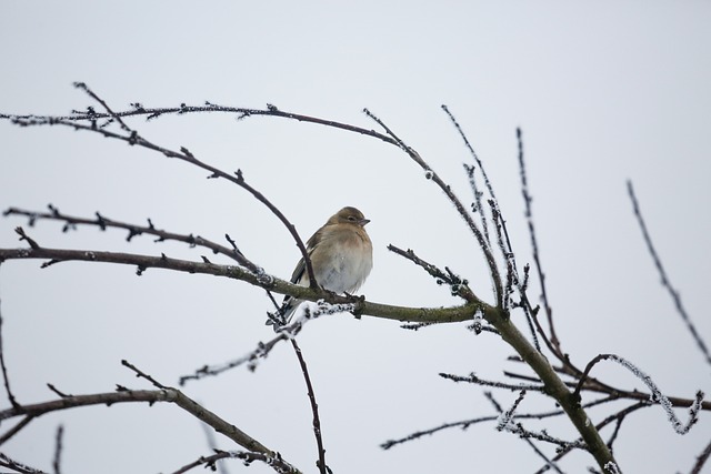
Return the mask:
<svg viewBox="0 0 711 474"><path fill-rule="evenodd" d="M471 162L440 110L448 104L493 180L520 264L530 262L517 168L523 130L541 258L557 330L580 366L619 354L669 395L711 393L704 364L660 285L627 196L631 179L648 226L699 332L711 337L709 132L711 4L683 2L2 2L0 111L66 114L92 104L87 82L116 110L131 102L177 107L206 100L281 110L377 129L369 108L471 200ZM238 168L296 224L303 239L343 205L371 219L369 300L453 305L447 289L391 254L411 248L465 276L492 301L481 252L443 194L395 148L339 130L228 114L130 122L149 140L189 148L227 171ZM229 233L267 271L288 278L299 253L253 198L186 163L68 129L0 123L0 208L103 215L221 241ZM200 260L204 251L150 238L0 220L0 246L130 251ZM217 259L216 259L217 260ZM66 393L150 389L127 359L164 384L224 362L271 337L263 292L206 275L108 264L38 261L0 269L4 355L21 403ZM532 295L538 294L533 290ZM299 341L311 370L337 473L534 472L542 464L492 425L439 433L382 451L385 440L492 413L478 386L439 372L501 379L511 350L465 324L417 333L372 317L331 316ZM642 389L610 363L595 376ZM307 472L317 458L298 363L287 345L254 373L237 369L186 393ZM499 393L509 405L512 393ZM4 400L4 399L3 399ZM9 406L4 400L2 406ZM623 405L619 405L620 407ZM527 399L522 411L550 410ZM591 412L599 421L609 409ZM687 414L679 412L683 421ZM64 425L64 472L158 473L209 454L199 422L171 405L121 405L43 416L2 452L51 471ZM7 423L3 428L11 426ZM572 436L567 423L552 434ZM615 455L625 472L688 472L709 443L703 413L687 435L659 407L622 426ZM610 431L603 432L607 438ZM218 436L222 448L236 448ZM550 453L551 448L548 447ZM561 467L583 472L591 457ZM232 473L247 471L239 462ZM271 472L253 465L250 472ZM707 472L711 467L707 466Z"/></svg>

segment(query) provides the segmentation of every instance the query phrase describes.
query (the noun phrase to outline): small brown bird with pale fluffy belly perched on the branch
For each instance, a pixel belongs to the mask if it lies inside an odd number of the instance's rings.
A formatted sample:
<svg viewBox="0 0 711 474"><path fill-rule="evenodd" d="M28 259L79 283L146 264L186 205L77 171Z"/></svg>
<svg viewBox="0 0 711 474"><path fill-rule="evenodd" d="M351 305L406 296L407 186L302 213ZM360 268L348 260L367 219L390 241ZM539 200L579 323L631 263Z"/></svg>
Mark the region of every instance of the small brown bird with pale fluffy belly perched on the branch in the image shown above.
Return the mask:
<svg viewBox="0 0 711 474"><path fill-rule="evenodd" d="M307 241L313 275L321 288L340 294L353 293L363 284L373 268L373 245L365 232L369 222L358 209L343 208ZM291 275L291 283L310 284L303 258ZM287 323L303 301L284 296L280 314Z"/></svg>

